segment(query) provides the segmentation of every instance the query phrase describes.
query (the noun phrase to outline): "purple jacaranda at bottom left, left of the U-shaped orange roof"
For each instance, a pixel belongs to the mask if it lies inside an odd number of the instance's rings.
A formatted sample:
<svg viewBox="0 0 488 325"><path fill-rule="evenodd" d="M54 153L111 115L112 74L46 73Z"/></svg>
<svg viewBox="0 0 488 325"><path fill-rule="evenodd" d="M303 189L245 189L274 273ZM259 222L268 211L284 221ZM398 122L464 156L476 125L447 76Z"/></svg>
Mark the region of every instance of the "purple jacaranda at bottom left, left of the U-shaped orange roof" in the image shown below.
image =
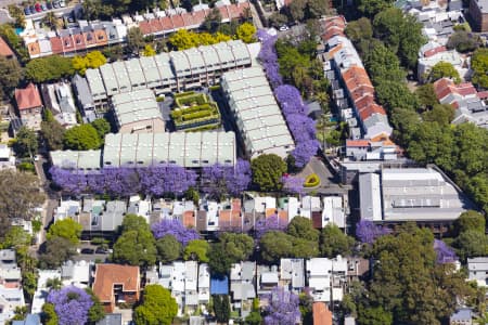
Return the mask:
<svg viewBox="0 0 488 325"><path fill-rule="evenodd" d="M75 286L51 290L47 301L54 304L60 325L87 324L88 311L93 304L90 295Z"/></svg>

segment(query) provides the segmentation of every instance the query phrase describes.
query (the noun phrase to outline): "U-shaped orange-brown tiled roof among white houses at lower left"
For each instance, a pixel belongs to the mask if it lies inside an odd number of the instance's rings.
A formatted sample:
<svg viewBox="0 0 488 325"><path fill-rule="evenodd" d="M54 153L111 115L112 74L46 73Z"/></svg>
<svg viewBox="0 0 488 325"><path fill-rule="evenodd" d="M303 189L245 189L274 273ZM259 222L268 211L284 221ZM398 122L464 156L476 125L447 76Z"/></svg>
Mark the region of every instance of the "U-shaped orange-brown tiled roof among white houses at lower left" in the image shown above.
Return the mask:
<svg viewBox="0 0 488 325"><path fill-rule="evenodd" d="M124 291L138 291L140 289L139 266L97 264L93 292L102 302L113 300L114 284L121 284Z"/></svg>

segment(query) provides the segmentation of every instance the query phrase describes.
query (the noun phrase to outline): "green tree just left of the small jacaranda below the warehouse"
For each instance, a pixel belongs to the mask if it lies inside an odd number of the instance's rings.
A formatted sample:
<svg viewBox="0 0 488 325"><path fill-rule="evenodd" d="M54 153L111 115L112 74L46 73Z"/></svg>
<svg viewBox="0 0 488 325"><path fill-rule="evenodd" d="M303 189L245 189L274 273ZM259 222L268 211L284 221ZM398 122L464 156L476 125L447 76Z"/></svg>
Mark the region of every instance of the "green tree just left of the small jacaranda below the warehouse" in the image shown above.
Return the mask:
<svg viewBox="0 0 488 325"><path fill-rule="evenodd" d="M335 224L328 224L322 229L320 242L320 250L328 258L334 258L337 255L348 256L355 245L355 239Z"/></svg>

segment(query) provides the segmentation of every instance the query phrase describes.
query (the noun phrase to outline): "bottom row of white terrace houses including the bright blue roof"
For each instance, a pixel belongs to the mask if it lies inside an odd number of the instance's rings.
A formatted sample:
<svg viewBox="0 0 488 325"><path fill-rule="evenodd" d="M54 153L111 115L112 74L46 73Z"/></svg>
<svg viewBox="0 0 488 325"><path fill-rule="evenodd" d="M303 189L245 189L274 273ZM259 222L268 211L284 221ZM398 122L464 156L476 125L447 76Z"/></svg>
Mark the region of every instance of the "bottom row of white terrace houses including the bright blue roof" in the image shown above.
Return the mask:
<svg viewBox="0 0 488 325"><path fill-rule="evenodd" d="M281 259L280 265L259 265L242 261L231 265L229 277L213 277L206 263L175 261L146 272L147 284L159 284L177 300L178 314L203 314L211 295L230 295L232 310L246 317L253 299L267 303L272 288L283 287L295 294L308 290L314 302L338 303L348 283L369 272L368 260L360 258Z"/></svg>

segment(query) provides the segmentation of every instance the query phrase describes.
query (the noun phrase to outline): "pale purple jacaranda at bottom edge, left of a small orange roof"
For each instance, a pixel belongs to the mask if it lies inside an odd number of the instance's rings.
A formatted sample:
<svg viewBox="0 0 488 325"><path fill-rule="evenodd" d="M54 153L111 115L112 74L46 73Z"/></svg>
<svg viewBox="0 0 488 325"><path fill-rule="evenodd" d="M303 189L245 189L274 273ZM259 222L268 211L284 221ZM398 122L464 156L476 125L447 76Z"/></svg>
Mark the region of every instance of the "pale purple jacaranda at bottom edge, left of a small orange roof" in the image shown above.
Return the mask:
<svg viewBox="0 0 488 325"><path fill-rule="evenodd" d="M266 325L295 325L300 323L299 298L283 287L274 287L265 308Z"/></svg>

